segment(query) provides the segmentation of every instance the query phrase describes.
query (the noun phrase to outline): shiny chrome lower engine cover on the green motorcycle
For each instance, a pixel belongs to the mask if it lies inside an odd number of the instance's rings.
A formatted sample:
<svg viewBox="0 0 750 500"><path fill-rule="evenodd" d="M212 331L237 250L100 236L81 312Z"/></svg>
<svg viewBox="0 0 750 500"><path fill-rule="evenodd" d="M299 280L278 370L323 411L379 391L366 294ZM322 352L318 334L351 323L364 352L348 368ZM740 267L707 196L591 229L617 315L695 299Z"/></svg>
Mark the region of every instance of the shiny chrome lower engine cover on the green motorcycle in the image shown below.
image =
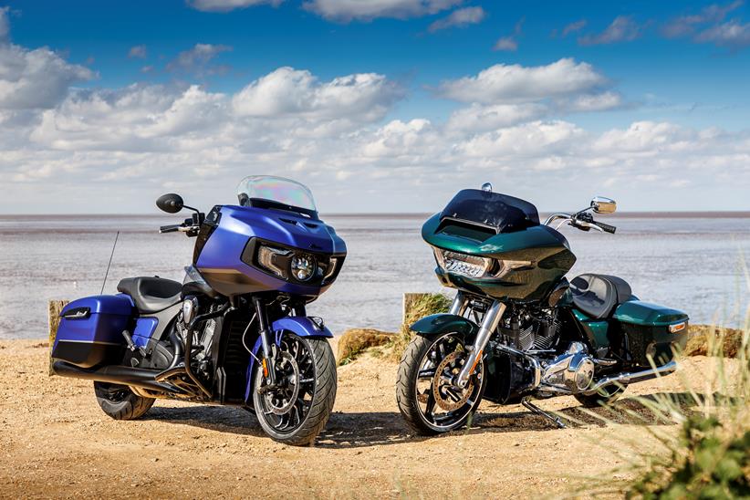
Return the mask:
<svg viewBox="0 0 750 500"><path fill-rule="evenodd" d="M542 367L542 391L562 390L575 394L589 389L594 380L594 359L581 342L571 342L564 353L543 362Z"/></svg>

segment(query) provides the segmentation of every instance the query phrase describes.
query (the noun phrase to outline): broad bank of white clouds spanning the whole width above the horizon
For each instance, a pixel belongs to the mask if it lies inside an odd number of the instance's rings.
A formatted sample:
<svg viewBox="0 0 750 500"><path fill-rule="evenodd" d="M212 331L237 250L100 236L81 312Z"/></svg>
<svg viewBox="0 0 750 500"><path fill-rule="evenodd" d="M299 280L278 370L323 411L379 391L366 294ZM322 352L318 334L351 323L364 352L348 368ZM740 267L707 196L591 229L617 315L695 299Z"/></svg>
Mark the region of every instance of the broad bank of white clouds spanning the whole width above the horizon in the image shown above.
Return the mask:
<svg viewBox="0 0 750 500"><path fill-rule="evenodd" d="M435 210L485 181L544 210L576 203L580 186L607 187L628 210L662 208L665 180L672 209L740 209L742 197L704 193L750 190L748 131L644 120L601 132L561 120L622 105L605 76L572 59L445 82L439 91L466 103L449 118L401 110L393 120L404 91L374 73L321 80L279 68L234 94L71 89L91 72L47 48L3 50L0 212L39 210L40 196L61 213L140 212L164 191L208 207L231 203L251 173L310 184L324 213Z"/></svg>

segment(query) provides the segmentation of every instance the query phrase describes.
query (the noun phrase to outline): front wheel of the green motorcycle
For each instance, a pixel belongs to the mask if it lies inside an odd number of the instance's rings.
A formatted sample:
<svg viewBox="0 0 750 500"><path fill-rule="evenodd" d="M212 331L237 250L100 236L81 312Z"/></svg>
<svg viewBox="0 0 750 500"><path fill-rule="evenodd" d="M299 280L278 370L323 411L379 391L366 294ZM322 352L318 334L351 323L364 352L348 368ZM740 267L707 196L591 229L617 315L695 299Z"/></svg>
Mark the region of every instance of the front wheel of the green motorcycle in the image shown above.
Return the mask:
<svg viewBox="0 0 750 500"><path fill-rule="evenodd" d="M454 333L411 339L396 381L396 401L411 430L422 435L450 432L476 411L486 384L484 363L479 361L465 389L454 385L466 356L464 339Z"/></svg>

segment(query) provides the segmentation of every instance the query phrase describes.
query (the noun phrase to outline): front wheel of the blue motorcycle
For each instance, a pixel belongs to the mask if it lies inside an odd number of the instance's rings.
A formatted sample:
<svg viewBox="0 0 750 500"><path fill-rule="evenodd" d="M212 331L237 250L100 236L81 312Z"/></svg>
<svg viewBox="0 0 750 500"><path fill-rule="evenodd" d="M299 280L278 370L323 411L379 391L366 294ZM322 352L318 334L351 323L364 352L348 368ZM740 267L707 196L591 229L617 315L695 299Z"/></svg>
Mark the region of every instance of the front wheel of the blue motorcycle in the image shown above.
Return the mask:
<svg viewBox="0 0 750 500"><path fill-rule="evenodd" d="M263 430L275 441L305 446L328 422L336 400L336 360L326 339L285 332L276 355L276 383L255 365L253 403Z"/></svg>

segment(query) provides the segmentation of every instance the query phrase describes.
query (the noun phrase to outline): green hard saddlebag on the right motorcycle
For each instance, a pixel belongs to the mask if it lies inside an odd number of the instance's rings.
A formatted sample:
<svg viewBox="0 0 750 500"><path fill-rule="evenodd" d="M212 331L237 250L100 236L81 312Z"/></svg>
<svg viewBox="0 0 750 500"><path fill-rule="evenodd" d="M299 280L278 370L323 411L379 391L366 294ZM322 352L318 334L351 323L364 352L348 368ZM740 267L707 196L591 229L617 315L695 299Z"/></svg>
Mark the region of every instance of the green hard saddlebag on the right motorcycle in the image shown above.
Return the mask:
<svg viewBox="0 0 750 500"><path fill-rule="evenodd" d="M620 322L626 347L635 364L649 368L672 360L682 351L688 338L688 316L682 311L641 300L623 302L613 318Z"/></svg>

